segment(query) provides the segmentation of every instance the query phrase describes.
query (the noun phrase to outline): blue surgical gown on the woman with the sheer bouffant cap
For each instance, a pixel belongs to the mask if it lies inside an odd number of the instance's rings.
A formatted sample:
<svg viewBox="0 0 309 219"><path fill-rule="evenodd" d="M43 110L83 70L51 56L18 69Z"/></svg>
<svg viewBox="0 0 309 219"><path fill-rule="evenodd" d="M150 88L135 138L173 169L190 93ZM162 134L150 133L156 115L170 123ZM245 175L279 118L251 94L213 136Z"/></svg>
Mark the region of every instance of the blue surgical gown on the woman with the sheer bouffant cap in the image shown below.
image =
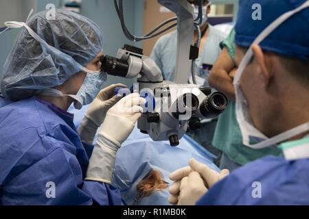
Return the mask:
<svg viewBox="0 0 309 219"><path fill-rule="evenodd" d="M81 142L73 114L0 97L0 139L0 205L121 204L117 188L84 180L93 146Z"/></svg>

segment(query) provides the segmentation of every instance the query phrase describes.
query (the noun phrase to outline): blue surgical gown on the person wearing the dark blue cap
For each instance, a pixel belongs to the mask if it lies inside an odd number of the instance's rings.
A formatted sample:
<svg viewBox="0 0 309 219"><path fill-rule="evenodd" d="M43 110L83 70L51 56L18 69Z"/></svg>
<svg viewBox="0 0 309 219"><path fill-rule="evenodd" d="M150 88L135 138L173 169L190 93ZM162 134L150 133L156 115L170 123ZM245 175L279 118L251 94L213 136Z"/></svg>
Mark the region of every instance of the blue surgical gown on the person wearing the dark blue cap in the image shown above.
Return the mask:
<svg viewBox="0 0 309 219"><path fill-rule="evenodd" d="M197 205L309 205L309 159L266 156L231 172Z"/></svg>

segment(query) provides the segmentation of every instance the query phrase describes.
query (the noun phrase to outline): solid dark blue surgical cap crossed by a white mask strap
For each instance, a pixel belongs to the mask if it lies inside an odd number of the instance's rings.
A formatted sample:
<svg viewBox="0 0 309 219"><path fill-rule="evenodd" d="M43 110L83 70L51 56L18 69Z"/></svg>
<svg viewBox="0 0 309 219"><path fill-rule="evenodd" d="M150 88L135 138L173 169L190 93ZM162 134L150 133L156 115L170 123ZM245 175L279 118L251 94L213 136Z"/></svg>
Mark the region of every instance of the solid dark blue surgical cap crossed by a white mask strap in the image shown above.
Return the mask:
<svg viewBox="0 0 309 219"><path fill-rule="evenodd" d="M236 23L236 44L250 47L255 38L279 16L295 10L307 0L240 0ZM262 20L253 21L253 4L262 9ZM309 8L294 14L277 27L261 43L260 47L280 55L308 60L309 57Z"/></svg>

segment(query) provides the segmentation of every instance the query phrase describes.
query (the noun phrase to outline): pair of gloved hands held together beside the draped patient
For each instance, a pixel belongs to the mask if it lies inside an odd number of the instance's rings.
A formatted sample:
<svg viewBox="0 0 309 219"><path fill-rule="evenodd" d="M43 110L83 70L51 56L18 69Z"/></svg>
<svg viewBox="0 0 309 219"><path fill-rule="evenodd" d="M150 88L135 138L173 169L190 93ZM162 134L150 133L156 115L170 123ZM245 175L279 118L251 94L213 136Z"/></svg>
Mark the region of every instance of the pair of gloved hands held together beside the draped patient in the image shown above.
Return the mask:
<svg viewBox="0 0 309 219"><path fill-rule="evenodd" d="M203 185L201 183L196 183L196 185L189 185L190 181L188 181L189 175L192 172L198 172L203 179ZM170 174L170 179L175 181L170 187L170 198L168 201L171 204L179 203L181 199L182 204L192 204L194 205L198 198L201 198L201 192L207 192L207 189L211 188L212 185L223 179L229 175L229 170L221 170L220 173L212 170L207 165L202 164L201 162L196 161L196 159L190 159L189 166L176 170ZM196 174L194 174L193 179L198 181ZM183 181L182 181L183 180ZM183 183L183 185L181 185ZM184 195L181 196L181 189L186 191ZM187 192L192 192L192 198L187 196ZM193 194L195 194L193 196ZM194 200L195 199L195 200ZM194 201L194 202L193 202Z"/></svg>

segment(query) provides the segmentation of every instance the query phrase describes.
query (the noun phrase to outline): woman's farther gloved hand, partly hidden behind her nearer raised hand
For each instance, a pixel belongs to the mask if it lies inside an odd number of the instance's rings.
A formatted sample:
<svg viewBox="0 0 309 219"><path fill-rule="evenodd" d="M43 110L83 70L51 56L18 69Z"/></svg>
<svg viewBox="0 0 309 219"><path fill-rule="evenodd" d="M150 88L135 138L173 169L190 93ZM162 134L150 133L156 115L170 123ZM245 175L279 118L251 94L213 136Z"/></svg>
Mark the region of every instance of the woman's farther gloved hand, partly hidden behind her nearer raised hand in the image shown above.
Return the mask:
<svg viewBox="0 0 309 219"><path fill-rule="evenodd" d="M78 127L78 133L82 142L93 144L95 133L97 133L98 127L103 123L106 112L121 99L121 97L114 95L114 90L117 87L126 88L122 83L108 86L100 91L89 106Z"/></svg>

